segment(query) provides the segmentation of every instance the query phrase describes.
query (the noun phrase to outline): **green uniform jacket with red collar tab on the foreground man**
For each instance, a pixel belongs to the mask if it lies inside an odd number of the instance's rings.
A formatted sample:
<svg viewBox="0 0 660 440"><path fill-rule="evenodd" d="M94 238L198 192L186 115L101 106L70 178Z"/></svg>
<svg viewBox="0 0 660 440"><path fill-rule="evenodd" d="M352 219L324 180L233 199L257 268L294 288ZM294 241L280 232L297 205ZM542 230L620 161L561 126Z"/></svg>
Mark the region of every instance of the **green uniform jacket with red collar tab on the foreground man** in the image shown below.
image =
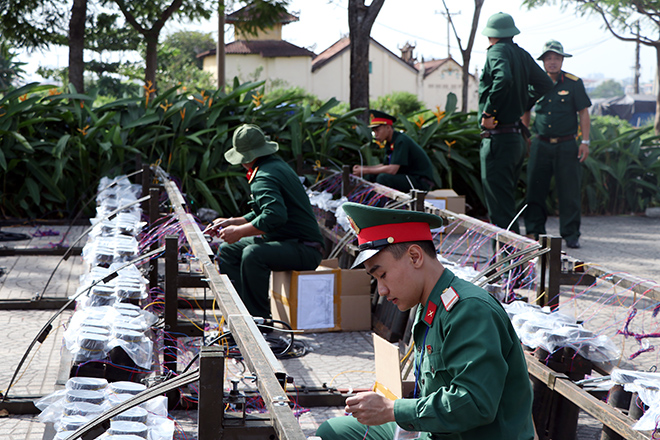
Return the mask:
<svg viewBox="0 0 660 440"><path fill-rule="evenodd" d="M441 295L449 287L459 299L447 311ZM401 428L431 439L533 439L527 364L497 300L445 269L417 310L413 337L421 397L394 402Z"/></svg>

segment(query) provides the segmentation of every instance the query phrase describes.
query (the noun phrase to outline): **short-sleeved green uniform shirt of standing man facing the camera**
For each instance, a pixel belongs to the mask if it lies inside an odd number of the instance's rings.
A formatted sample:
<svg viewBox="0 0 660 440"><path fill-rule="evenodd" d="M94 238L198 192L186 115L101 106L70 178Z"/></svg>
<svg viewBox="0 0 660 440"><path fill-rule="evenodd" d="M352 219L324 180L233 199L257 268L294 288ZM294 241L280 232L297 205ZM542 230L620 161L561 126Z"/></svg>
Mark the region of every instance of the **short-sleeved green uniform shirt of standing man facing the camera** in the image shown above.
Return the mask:
<svg viewBox="0 0 660 440"><path fill-rule="evenodd" d="M577 112L591 106L582 80L560 72L557 83L536 103L534 130L544 137L577 134Z"/></svg>

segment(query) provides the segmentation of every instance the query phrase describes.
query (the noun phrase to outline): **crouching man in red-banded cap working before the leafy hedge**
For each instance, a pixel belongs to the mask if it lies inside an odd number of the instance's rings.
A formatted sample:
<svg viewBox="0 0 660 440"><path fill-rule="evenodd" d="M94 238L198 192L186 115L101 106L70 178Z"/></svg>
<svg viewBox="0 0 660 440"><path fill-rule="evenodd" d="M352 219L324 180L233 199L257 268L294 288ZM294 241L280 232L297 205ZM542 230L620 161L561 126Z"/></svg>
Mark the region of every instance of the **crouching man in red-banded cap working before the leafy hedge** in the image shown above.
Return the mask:
<svg viewBox="0 0 660 440"><path fill-rule="evenodd" d="M433 164L422 147L407 134L394 130L394 116L378 110L372 110L370 116L369 127L376 142L387 148L387 158L382 165L354 165L353 174L375 174L376 182L402 192L432 189Z"/></svg>

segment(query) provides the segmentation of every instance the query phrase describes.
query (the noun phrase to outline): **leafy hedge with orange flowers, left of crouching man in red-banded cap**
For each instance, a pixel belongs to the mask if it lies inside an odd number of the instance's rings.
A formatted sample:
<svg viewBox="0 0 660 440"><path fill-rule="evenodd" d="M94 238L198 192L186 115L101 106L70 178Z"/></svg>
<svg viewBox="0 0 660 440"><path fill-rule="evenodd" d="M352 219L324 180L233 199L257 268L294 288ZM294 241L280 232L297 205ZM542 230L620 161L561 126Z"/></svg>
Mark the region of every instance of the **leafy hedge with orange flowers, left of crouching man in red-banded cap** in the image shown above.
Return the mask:
<svg viewBox="0 0 660 440"><path fill-rule="evenodd" d="M341 164L365 142L369 130L354 114L331 113L336 101L312 111L294 96L264 100L263 87L238 81L227 93L174 87L156 98L145 87L143 97L100 107L93 106L96 96L52 86L7 93L0 99L3 215L69 216L83 189L132 171L133 158L157 162L179 179L194 209L232 215L244 209L248 191L242 169L224 160L236 126L260 125L280 142L282 157L310 175L314 164Z"/></svg>

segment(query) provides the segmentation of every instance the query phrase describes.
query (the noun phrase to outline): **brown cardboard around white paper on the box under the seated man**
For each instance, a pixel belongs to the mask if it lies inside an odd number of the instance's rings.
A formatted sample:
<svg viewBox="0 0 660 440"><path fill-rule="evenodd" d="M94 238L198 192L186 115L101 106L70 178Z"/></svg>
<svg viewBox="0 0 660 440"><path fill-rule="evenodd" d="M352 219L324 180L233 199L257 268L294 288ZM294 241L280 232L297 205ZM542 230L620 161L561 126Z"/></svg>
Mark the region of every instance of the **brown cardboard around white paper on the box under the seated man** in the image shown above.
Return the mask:
<svg viewBox="0 0 660 440"><path fill-rule="evenodd" d="M334 276L334 325L324 328L303 329L305 332L358 331L371 329L370 279L364 269L332 268L336 260L323 260L315 271L273 272L270 279L270 302L273 319L289 323L298 329L298 283L301 276ZM309 280L309 278L307 278ZM309 316L305 316L309 320Z"/></svg>

